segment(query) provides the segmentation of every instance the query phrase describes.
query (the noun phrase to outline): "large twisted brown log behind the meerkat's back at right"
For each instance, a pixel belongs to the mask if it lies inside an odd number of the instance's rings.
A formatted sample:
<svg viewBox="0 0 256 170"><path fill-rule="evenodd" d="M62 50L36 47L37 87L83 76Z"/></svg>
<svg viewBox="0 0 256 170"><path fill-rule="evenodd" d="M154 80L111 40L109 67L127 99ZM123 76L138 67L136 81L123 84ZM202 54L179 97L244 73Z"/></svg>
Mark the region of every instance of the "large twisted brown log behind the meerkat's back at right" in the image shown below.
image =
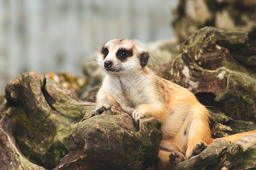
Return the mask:
<svg viewBox="0 0 256 170"><path fill-rule="evenodd" d="M234 59L236 54L244 58L256 54L247 41L246 32L199 29L181 44L182 53L160 65L156 73L194 92L213 112L255 122L255 68Z"/></svg>

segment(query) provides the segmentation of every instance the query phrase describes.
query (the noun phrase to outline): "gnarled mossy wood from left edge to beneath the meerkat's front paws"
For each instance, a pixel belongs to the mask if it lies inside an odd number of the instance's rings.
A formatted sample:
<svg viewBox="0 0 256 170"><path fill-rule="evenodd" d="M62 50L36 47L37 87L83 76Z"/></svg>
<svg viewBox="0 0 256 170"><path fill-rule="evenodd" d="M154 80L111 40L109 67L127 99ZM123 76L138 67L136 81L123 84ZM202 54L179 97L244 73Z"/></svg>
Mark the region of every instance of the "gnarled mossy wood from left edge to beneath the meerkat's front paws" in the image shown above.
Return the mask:
<svg viewBox="0 0 256 170"><path fill-rule="evenodd" d="M72 91L35 72L11 80L5 97L0 107L0 167L143 169L158 160L162 132L155 118L141 121L138 131L131 116L117 106L91 117L94 103L78 100Z"/></svg>

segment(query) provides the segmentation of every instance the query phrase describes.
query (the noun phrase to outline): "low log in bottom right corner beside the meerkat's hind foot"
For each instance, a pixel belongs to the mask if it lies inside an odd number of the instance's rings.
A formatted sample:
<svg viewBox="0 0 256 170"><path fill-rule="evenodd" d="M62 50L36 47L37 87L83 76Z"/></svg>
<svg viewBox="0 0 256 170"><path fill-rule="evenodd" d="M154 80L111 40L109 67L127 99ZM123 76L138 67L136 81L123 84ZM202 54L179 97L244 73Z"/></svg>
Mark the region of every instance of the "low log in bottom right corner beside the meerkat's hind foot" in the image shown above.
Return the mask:
<svg viewBox="0 0 256 170"><path fill-rule="evenodd" d="M216 139L209 147L176 165L174 169L255 169L256 133L243 135L230 144L224 139Z"/></svg>

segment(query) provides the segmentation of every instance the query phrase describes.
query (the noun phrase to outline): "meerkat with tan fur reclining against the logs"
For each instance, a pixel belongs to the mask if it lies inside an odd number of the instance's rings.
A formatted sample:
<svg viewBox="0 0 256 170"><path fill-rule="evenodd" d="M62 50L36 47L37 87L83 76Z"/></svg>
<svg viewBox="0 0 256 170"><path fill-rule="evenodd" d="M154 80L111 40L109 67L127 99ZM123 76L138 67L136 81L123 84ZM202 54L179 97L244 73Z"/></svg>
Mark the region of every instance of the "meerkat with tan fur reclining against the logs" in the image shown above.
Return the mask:
<svg viewBox="0 0 256 170"><path fill-rule="evenodd" d="M98 64L106 71L97 93L95 115L118 103L135 124L144 117L160 120L163 133L159 169L200 154L213 141L209 112L191 91L148 69L147 50L128 39L113 39L101 48Z"/></svg>

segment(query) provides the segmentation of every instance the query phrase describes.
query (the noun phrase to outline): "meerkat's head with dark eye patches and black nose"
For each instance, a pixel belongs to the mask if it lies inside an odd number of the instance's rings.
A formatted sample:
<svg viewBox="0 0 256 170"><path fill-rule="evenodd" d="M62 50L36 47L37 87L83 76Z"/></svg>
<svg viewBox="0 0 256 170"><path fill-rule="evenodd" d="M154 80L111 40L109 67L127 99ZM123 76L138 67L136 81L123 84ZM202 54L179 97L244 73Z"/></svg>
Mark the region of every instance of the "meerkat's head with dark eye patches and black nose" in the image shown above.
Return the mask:
<svg viewBox="0 0 256 170"><path fill-rule="evenodd" d="M129 73L143 69L149 54L141 46L128 39L113 39L101 48L98 63L110 74Z"/></svg>

